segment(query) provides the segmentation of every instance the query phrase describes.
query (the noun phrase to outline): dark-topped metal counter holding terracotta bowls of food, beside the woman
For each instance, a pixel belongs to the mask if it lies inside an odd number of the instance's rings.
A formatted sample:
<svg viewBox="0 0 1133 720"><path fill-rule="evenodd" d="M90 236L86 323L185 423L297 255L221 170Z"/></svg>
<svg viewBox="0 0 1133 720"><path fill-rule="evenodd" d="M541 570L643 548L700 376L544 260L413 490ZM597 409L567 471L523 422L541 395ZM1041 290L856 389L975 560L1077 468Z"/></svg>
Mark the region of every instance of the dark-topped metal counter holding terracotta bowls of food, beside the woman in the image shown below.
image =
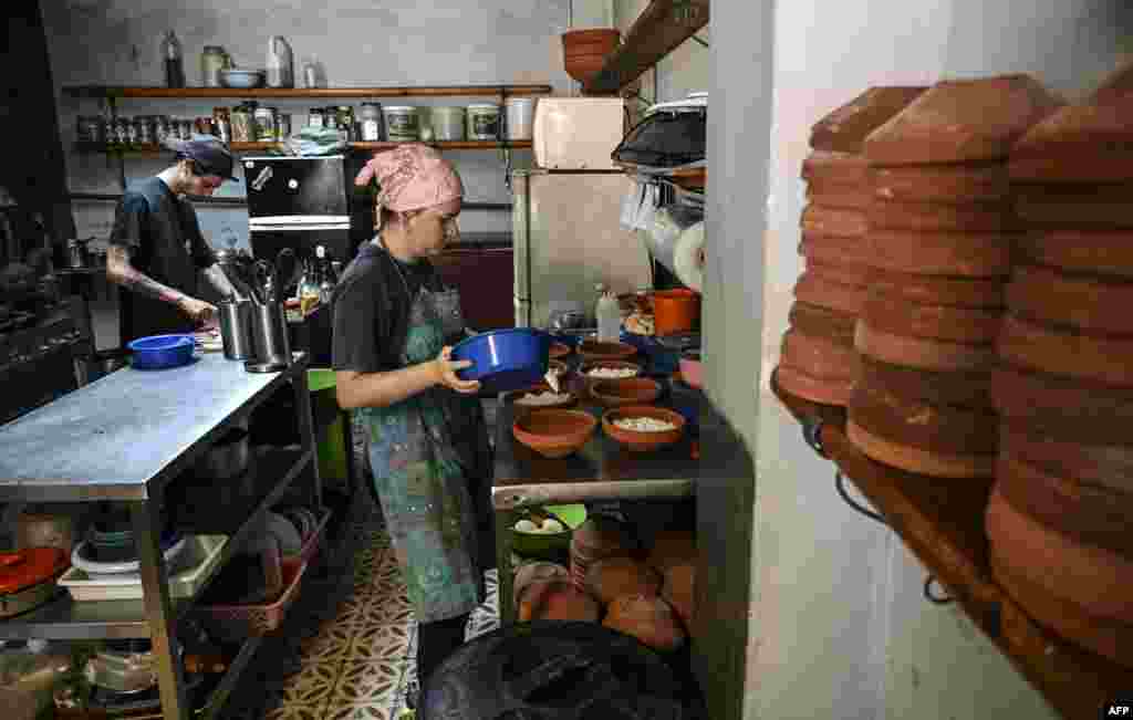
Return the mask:
<svg viewBox="0 0 1133 720"><path fill-rule="evenodd" d="M680 500L696 495L698 480L717 473L742 453L742 442L698 389L662 378L668 392L653 404L695 417L678 443L648 453L625 449L599 427L582 448L550 460L512 436L510 403L496 411L495 477L492 504L496 513L496 563L500 569L500 616L514 620L510 529L518 508L587 500ZM600 417L603 408L583 400L580 406Z"/></svg>

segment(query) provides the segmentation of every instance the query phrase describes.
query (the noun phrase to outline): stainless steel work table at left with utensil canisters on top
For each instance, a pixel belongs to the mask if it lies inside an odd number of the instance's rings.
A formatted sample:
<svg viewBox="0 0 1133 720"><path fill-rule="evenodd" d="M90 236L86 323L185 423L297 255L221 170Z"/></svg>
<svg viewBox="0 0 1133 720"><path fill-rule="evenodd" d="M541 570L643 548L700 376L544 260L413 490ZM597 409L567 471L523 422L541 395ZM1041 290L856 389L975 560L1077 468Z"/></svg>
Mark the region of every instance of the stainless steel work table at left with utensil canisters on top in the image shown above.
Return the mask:
<svg viewBox="0 0 1133 720"><path fill-rule="evenodd" d="M145 592L144 600L134 602L71 602L62 597L0 622L0 637L151 637L163 714L169 720L189 718L180 663L172 659L179 654L177 622L193 599L173 602L169 595L159 551L165 489L211 443L290 385L300 445L257 455L256 487L263 495L229 539L218 569L240 547L252 521L305 469L321 503L306 370L303 353L296 353L288 369L264 375L247 372L242 362L219 353L169 370L125 368L0 427L0 502L128 504ZM208 703L211 714L220 710L257 646L258 640L250 638L231 662Z"/></svg>

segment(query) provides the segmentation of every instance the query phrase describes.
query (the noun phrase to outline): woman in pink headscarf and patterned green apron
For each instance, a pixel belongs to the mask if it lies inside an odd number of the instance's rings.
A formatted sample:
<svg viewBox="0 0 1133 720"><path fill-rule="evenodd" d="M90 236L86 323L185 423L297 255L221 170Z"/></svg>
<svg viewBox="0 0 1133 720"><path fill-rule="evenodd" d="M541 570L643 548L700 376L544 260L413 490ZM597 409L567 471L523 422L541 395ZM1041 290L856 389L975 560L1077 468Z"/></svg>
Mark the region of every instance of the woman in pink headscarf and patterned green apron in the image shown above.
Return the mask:
<svg viewBox="0 0 1133 720"><path fill-rule="evenodd" d="M479 383L455 371L465 336L459 295L428 258L459 237L463 187L424 145L380 153L355 182L376 179L378 234L334 295L338 400L368 429L373 489L420 624L418 678L465 638L491 566L492 456ZM482 541L483 539L483 541Z"/></svg>

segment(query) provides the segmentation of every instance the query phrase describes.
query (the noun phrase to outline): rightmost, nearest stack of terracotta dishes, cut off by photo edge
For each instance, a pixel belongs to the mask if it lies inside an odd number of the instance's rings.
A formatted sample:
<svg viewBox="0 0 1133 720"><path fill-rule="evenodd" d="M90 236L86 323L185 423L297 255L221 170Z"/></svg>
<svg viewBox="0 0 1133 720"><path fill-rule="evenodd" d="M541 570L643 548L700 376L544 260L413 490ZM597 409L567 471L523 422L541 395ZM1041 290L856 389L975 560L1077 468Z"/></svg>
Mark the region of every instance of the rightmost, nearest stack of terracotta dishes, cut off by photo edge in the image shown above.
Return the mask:
<svg viewBox="0 0 1133 720"><path fill-rule="evenodd" d="M1133 94L1096 94L1011 157L1028 226L993 394L991 566L1039 622L1133 667Z"/></svg>

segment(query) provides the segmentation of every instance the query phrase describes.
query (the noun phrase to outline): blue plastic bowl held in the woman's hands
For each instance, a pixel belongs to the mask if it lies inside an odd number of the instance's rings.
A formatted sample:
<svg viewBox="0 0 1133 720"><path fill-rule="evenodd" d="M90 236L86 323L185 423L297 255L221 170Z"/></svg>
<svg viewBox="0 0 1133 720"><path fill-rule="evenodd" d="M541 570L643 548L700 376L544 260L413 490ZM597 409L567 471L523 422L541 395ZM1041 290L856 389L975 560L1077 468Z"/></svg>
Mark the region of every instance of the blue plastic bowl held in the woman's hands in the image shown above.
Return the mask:
<svg viewBox="0 0 1133 720"><path fill-rule="evenodd" d="M480 333L452 349L453 360L471 360L457 370L462 380L479 380L480 392L506 393L535 385L547 374L552 337L531 327Z"/></svg>

